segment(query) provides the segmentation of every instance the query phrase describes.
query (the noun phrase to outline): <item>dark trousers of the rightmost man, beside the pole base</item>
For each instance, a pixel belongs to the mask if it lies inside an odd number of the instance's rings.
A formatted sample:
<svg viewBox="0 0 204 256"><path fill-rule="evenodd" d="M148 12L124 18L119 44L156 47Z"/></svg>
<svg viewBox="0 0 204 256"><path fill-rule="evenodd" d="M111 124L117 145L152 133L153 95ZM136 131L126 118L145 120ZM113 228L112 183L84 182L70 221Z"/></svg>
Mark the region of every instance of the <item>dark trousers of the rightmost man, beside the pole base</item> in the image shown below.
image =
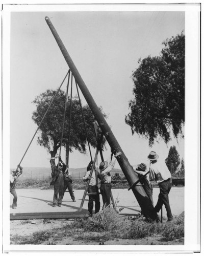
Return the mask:
<svg viewBox="0 0 204 256"><path fill-rule="evenodd" d="M162 208L162 205L164 204L165 208L166 208L166 212L167 212L167 217L168 220L172 220L172 214L171 214L171 208L170 208L170 204L169 204L169 192L171 190L171 181L170 179L160 182L158 183L159 188L160 188L160 194L158 197L158 201L157 204L155 206L155 210L156 212L159 212Z"/></svg>

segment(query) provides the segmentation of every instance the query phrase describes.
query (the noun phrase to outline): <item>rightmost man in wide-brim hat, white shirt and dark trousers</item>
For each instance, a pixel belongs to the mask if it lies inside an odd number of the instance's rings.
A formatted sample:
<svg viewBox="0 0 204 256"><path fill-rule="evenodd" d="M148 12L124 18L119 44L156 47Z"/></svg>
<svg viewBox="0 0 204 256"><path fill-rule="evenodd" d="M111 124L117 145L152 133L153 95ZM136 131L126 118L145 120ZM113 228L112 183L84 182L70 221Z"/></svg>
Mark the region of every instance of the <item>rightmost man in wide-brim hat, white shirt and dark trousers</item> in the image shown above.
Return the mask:
<svg viewBox="0 0 204 256"><path fill-rule="evenodd" d="M150 177L151 179L153 179L155 176L155 180L157 181L160 188L160 194L158 202L155 206L155 210L156 212L159 212L162 208L162 205L164 204L167 212L168 221L171 221L173 217L171 214L168 197L171 189L171 173L169 172L169 169L165 162L158 161L159 156L156 152L151 151L147 156L147 159L150 160Z"/></svg>

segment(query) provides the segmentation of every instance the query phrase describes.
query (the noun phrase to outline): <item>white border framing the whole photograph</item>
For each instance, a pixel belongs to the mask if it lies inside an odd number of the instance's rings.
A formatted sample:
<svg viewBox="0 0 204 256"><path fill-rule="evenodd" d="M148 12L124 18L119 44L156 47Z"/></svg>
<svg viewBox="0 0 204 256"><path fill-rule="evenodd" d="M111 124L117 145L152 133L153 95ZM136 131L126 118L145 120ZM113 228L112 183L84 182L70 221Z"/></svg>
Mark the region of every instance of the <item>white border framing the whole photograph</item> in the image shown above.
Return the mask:
<svg viewBox="0 0 204 256"><path fill-rule="evenodd" d="M186 36L186 122L185 122L185 245L164 246L46 246L9 244L9 205L6 204L9 185L3 183L3 248L7 251L82 251L125 252L160 251L184 252L199 251L200 223L200 6L197 5L4 5L3 4L3 180L8 180L9 170L9 57L10 56L10 12L13 11L185 11ZM192 86L193 85L193 86ZM197 170L197 172L195 171ZM193 172L193 174L192 174ZM190 188L190 189L189 189Z"/></svg>

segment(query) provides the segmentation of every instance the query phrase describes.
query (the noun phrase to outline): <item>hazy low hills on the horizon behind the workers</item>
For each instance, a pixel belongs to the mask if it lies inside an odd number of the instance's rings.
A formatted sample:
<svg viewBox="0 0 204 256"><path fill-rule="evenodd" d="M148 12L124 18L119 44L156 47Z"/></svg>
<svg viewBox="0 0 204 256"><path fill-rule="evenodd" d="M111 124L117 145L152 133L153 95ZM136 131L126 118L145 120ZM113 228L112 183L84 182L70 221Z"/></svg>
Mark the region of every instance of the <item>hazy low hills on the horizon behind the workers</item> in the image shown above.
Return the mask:
<svg viewBox="0 0 204 256"><path fill-rule="evenodd" d="M23 167L22 175L20 176L21 180L25 179L35 179L35 180L43 180L51 177L51 168L50 167ZM86 174L86 167L83 168L70 168L69 173L72 175L74 179L81 179ZM111 175L115 175L118 173L123 175L121 169L113 168L111 171Z"/></svg>

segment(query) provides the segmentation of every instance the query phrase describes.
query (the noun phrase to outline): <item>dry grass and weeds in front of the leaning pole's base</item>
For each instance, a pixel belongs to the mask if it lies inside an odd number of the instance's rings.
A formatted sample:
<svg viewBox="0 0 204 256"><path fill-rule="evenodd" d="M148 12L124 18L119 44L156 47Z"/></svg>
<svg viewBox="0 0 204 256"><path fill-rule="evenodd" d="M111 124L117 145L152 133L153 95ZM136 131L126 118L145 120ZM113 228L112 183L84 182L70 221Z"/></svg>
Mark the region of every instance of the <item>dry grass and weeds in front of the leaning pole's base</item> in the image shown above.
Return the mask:
<svg viewBox="0 0 204 256"><path fill-rule="evenodd" d="M105 233L106 240L141 239L157 234L161 237L161 241L173 241L184 237L184 212L171 222L149 223L141 218L131 220L128 217L121 217L114 209L108 208L98 212L93 218L75 220L71 228L80 228L84 232L97 232L100 233L100 237ZM85 236L84 232L81 239Z"/></svg>

